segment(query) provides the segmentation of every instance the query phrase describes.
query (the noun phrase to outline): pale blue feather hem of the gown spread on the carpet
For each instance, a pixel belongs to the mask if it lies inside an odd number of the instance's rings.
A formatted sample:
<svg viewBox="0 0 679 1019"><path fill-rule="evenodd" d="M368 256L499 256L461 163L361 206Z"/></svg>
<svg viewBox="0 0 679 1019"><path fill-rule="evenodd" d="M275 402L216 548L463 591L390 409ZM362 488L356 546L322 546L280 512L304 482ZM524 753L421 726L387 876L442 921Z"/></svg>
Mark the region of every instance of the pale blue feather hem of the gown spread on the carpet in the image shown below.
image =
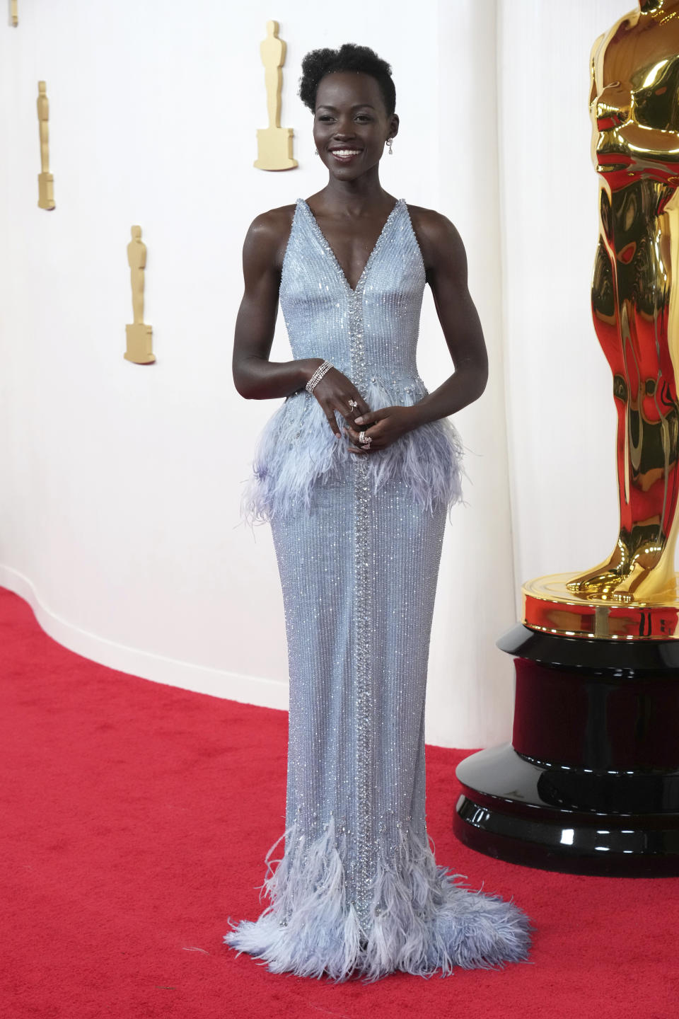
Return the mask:
<svg viewBox="0 0 679 1019"><path fill-rule="evenodd" d="M267 854L262 886L270 905L256 921L231 923L224 942L246 952L274 973L340 982L378 980L395 970L430 977L456 967L497 968L527 958L530 923L497 896L469 891L460 875L436 864L429 843L398 828L391 859L382 855L372 886L370 920L361 923L347 900L343 856L334 821L303 851L292 825L281 839L297 851L275 860Z"/></svg>

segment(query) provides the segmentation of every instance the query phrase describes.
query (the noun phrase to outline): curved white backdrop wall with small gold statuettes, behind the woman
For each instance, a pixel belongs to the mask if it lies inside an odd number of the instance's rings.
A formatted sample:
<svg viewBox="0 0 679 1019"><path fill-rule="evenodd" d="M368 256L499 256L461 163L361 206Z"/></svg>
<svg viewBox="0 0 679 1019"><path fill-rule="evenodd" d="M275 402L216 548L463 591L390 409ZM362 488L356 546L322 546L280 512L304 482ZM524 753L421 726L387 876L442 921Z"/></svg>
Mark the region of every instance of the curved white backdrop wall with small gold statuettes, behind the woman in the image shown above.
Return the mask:
<svg viewBox="0 0 679 1019"><path fill-rule="evenodd" d="M457 224L491 353L485 396L456 419L468 504L444 546L427 738L508 737L511 663L495 639L519 580L601 557L615 526L610 382L587 307L586 74L593 38L623 11L568 10L564 28L548 0L394 0L389 18L377 0L346 0L332 22L303 0L42 0L0 30L0 583L48 633L155 681L285 706L271 537L238 516L253 436L277 406L232 387L240 249L254 215L326 180L295 95L301 57L359 42L390 60L397 87L383 184ZM272 16L299 161L285 173L251 166ZM50 213L36 204L40 78ZM153 367L122 359L132 223L148 245ZM429 291L419 351L434 387L450 361ZM272 357L288 356L281 317Z"/></svg>

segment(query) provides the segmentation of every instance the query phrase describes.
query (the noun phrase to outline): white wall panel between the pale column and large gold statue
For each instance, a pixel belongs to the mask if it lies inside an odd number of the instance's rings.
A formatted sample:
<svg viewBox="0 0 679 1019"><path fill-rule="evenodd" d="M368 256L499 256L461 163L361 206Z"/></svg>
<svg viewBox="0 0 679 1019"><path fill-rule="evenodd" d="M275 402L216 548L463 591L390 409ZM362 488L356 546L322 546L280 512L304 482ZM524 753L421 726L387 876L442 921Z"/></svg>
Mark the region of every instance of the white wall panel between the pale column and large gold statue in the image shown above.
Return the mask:
<svg viewBox="0 0 679 1019"><path fill-rule="evenodd" d="M618 535L611 372L591 324L598 180L589 53L630 0L499 8L504 348L520 584L600 562Z"/></svg>

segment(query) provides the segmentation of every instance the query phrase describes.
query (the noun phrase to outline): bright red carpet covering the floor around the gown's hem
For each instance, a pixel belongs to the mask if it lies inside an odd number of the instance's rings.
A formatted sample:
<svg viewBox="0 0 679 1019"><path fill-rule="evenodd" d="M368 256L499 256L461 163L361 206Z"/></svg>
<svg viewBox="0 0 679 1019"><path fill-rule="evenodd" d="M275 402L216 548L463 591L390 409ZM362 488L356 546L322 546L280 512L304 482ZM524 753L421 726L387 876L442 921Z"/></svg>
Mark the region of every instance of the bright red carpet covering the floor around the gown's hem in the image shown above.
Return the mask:
<svg viewBox="0 0 679 1019"><path fill-rule="evenodd" d="M674 1019L679 878L554 874L451 834L459 751L428 747L437 857L513 895L531 962L334 985L222 945L281 834L287 716L71 654L0 589L3 1019Z"/></svg>

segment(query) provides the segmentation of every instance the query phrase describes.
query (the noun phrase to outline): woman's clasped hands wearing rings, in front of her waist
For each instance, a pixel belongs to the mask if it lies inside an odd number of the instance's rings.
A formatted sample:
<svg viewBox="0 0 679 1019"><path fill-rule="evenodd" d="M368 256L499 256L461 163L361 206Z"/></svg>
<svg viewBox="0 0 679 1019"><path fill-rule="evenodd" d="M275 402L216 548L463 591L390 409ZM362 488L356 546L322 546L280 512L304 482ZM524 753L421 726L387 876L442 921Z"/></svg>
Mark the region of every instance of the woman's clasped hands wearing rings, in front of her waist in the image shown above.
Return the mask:
<svg viewBox="0 0 679 1019"><path fill-rule="evenodd" d="M357 455L385 449L419 424L413 407L383 407L379 411L372 411L353 382L337 368L331 368L324 375L315 386L314 395L337 438L341 438L343 431L350 439L349 451ZM346 422L342 431L337 424L335 411ZM360 441L361 432L364 433L363 439L370 439L366 444Z"/></svg>

